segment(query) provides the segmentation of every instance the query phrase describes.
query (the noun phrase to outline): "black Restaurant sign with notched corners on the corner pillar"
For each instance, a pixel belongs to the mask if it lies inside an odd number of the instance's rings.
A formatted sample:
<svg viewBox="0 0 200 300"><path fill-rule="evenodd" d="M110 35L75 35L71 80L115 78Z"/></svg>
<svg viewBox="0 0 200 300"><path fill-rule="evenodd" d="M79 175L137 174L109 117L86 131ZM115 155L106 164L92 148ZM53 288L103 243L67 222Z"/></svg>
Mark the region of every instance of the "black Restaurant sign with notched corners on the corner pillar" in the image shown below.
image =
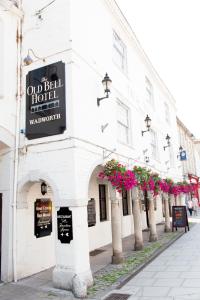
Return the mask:
<svg viewBox="0 0 200 300"><path fill-rule="evenodd" d="M61 207L57 211L58 239L61 243L69 244L73 240L72 211Z"/></svg>

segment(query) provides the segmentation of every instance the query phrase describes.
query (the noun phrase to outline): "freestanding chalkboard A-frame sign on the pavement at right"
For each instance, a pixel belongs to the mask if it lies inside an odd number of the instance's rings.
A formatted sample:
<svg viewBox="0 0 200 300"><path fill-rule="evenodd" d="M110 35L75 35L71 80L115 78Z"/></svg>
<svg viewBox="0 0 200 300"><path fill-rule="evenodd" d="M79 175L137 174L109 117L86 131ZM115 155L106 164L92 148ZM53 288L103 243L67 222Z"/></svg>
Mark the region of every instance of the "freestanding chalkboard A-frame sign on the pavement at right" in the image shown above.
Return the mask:
<svg viewBox="0 0 200 300"><path fill-rule="evenodd" d="M185 227L189 230L186 206L172 206L172 231L177 227Z"/></svg>

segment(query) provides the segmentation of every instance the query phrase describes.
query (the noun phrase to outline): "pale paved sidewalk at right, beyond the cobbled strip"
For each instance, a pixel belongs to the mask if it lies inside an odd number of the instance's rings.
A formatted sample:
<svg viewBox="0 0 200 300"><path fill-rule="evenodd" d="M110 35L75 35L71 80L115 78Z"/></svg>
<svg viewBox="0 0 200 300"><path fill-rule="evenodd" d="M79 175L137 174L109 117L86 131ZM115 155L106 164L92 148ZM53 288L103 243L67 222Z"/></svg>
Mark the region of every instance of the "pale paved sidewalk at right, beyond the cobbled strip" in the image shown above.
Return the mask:
<svg viewBox="0 0 200 300"><path fill-rule="evenodd" d="M197 223L188 233L110 294L131 295L128 300L200 300L200 220L190 221Z"/></svg>

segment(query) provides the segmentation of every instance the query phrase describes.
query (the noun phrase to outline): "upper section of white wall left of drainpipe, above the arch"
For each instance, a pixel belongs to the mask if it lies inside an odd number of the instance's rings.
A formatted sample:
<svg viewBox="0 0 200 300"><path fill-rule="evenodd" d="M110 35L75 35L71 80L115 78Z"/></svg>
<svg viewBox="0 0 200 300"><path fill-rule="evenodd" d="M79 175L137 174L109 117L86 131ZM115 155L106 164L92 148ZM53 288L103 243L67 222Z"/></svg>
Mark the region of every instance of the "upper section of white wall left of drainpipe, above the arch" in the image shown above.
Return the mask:
<svg viewBox="0 0 200 300"><path fill-rule="evenodd" d="M0 6L0 126L13 135L17 94L17 20L15 15Z"/></svg>

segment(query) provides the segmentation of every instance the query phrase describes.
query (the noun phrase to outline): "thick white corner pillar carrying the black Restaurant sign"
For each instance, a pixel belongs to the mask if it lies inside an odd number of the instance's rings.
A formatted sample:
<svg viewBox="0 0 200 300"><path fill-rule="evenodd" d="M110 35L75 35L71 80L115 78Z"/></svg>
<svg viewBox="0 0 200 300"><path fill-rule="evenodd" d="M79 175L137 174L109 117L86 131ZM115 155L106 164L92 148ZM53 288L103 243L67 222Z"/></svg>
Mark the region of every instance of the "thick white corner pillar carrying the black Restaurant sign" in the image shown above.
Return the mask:
<svg viewBox="0 0 200 300"><path fill-rule="evenodd" d="M56 210L59 209L56 207ZM80 206L71 206L69 209L72 211L73 240L68 244L61 243L56 228L53 283L56 288L72 290L76 297L84 298L87 296L87 287L93 283L89 261L87 206L86 203L80 203Z"/></svg>

